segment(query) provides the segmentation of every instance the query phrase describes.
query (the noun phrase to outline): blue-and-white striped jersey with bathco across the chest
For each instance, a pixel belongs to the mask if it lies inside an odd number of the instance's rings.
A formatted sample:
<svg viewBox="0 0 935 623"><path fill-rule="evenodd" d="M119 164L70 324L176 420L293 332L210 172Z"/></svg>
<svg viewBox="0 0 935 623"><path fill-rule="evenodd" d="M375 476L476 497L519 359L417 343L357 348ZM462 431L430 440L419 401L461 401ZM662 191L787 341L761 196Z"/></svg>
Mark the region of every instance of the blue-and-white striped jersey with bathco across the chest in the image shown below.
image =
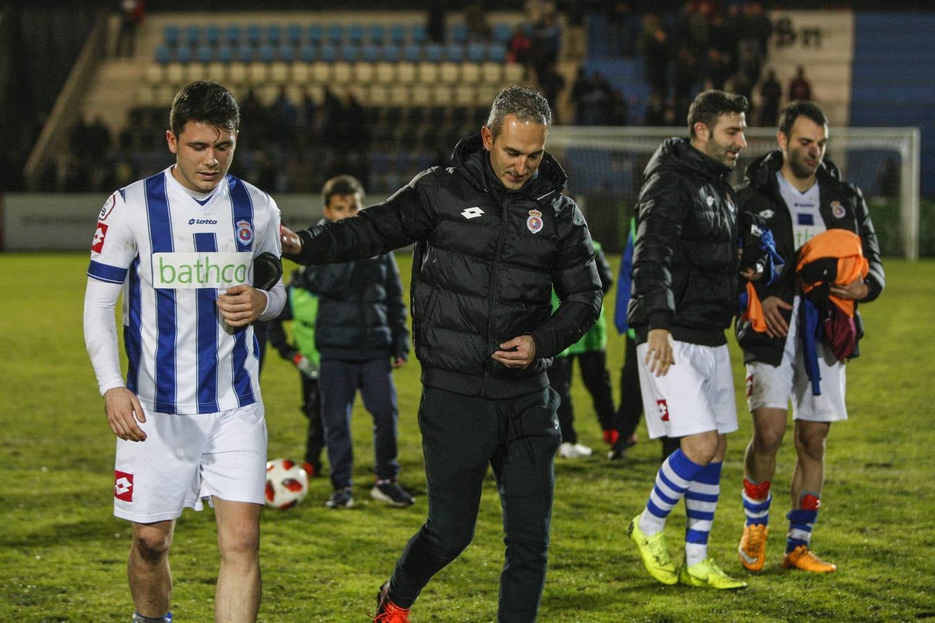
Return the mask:
<svg viewBox="0 0 935 623"><path fill-rule="evenodd" d="M88 276L123 285L126 387L144 408L215 413L260 400L252 326L230 327L215 302L252 284L256 255L281 255L279 232L273 199L234 176L204 201L171 167L111 195Z"/></svg>

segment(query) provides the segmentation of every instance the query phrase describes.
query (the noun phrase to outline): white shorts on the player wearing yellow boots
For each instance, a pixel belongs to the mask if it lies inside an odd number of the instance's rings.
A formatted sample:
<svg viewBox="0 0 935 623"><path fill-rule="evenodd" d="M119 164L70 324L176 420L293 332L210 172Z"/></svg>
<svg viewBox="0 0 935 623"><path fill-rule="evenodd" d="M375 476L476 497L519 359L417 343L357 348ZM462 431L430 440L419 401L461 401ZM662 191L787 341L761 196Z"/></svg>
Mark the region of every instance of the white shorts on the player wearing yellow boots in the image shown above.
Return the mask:
<svg viewBox="0 0 935 623"><path fill-rule="evenodd" d="M734 376L727 346L702 347L674 341L675 365L665 376L646 367L649 345L637 347L640 391L650 439L698 432L737 430Z"/></svg>

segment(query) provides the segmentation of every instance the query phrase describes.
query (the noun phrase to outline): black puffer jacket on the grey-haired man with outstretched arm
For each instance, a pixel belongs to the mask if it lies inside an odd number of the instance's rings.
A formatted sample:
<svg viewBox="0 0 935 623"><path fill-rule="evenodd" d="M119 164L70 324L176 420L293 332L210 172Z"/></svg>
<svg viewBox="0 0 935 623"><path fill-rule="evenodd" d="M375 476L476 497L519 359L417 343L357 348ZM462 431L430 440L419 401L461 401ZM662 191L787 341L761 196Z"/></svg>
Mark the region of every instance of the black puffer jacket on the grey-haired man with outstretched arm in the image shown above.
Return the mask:
<svg viewBox="0 0 935 623"><path fill-rule="evenodd" d="M507 398L548 386L552 358L597 319L602 292L594 247L567 177L551 155L519 191L490 169L480 136L458 143L453 166L416 176L356 219L300 232L302 263L345 262L417 243L411 310L425 385ZM562 304L552 313L551 294ZM525 370L491 359L528 333Z"/></svg>

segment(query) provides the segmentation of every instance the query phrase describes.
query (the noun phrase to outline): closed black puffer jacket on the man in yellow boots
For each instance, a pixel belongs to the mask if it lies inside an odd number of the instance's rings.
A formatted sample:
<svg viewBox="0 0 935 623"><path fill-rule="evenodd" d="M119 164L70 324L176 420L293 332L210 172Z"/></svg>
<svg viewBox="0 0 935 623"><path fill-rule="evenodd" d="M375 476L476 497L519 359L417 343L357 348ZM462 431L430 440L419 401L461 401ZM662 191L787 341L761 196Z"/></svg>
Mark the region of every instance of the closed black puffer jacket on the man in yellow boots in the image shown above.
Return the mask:
<svg viewBox="0 0 935 623"><path fill-rule="evenodd" d="M650 329L691 344L726 344L740 285L729 174L684 138L667 138L646 166L626 309L638 344Z"/></svg>

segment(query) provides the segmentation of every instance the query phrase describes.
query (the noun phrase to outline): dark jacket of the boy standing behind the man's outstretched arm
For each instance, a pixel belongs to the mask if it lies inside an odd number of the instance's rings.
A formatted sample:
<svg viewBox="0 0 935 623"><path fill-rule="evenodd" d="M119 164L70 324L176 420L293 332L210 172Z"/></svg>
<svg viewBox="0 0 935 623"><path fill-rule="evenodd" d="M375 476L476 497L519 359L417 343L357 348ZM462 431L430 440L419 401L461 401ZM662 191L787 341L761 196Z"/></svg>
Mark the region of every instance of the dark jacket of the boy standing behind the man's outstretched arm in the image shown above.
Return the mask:
<svg viewBox="0 0 935 623"><path fill-rule="evenodd" d="M406 305L392 252L309 266L295 285L318 295L315 347L322 359L405 359L409 354Z"/></svg>

